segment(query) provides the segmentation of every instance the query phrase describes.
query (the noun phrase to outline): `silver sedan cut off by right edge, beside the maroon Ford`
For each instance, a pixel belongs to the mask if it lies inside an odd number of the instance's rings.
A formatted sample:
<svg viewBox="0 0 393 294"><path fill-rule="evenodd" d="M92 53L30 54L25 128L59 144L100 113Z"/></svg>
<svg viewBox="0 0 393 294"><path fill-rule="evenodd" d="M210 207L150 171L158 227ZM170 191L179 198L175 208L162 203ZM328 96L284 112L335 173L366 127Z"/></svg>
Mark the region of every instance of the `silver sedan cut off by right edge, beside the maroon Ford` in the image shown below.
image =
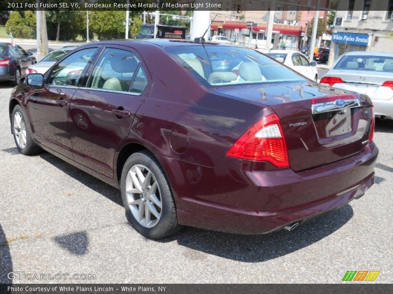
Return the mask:
<svg viewBox="0 0 393 294"><path fill-rule="evenodd" d="M393 119L393 53L348 52L320 81L369 96L375 116Z"/></svg>

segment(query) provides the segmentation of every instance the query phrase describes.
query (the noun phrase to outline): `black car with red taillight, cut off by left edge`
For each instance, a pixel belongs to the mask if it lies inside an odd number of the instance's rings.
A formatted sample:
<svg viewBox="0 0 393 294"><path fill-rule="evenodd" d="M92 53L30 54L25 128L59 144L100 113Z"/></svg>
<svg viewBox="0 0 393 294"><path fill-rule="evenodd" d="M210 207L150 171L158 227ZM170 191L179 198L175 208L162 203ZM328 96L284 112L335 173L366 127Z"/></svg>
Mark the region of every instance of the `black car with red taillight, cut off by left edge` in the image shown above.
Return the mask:
<svg viewBox="0 0 393 294"><path fill-rule="evenodd" d="M12 81L16 86L25 77L26 69L36 63L31 52L18 45L0 43L0 81Z"/></svg>

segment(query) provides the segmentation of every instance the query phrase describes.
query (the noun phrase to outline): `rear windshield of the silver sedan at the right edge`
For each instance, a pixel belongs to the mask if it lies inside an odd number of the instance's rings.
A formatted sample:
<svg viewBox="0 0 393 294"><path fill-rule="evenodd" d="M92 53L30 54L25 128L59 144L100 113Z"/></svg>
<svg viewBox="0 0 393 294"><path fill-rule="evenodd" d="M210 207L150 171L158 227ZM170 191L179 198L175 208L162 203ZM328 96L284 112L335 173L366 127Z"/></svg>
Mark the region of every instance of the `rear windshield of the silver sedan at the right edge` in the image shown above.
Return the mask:
<svg viewBox="0 0 393 294"><path fill-rule="evenodd" d="M342 57L337 70L393 72L393 57L351 55Z"/></svg>

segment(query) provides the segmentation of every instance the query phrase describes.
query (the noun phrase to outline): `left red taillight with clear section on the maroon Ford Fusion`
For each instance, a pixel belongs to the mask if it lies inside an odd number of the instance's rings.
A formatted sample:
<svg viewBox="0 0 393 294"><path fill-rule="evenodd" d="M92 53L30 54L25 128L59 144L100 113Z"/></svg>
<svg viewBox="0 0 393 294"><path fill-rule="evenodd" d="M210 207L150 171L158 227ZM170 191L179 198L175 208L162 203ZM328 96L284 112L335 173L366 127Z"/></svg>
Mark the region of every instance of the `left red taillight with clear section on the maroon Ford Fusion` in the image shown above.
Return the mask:
<svg viewBox="0 0 393 294"><path fill-rule="evenodd" d="M277 114L255 123L226 152L227 156L253 161L269 161L276 167L288 167L288 151Z"/></svg>

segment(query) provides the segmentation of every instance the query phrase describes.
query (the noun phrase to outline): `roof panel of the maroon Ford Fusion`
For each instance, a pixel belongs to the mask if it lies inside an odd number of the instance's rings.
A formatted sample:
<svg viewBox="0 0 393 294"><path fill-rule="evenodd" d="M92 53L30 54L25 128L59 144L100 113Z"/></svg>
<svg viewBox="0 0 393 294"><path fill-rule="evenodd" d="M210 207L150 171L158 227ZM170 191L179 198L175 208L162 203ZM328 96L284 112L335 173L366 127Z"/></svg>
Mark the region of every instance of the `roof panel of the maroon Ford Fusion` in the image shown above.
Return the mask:
<svg viewBox="0 0 393 294"><path fill-rule="evenodd" d="M111 40L111 41L99 41L94 43L86 43L81 47L92 45L92 44L112 44L112 45L123 45L130 47L138 47L138 45L154 45L161 48L178 47L178 46L226 46L226 47L238 47L229 44L213 43L213 42L195 42L187 39L132 39L132 40Z"/></svg>

